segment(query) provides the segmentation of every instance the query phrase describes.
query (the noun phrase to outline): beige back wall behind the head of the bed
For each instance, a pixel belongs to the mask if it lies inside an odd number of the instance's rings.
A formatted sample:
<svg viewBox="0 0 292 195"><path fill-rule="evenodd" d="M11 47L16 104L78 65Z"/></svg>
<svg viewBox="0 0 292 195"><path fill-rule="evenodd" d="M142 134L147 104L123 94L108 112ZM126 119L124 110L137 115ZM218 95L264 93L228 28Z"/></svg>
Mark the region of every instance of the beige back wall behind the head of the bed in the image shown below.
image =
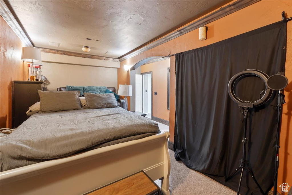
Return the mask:
<svg viewBox="0 0 292 195"><path fill-rule="evenodd" d="M45 82L48 82L49 91L56 91L57 87L66 85L106 86L117 89L117 68L106 67L119 67L119 62L48 53L41 55L42 74L48 79Z"/></svg>

